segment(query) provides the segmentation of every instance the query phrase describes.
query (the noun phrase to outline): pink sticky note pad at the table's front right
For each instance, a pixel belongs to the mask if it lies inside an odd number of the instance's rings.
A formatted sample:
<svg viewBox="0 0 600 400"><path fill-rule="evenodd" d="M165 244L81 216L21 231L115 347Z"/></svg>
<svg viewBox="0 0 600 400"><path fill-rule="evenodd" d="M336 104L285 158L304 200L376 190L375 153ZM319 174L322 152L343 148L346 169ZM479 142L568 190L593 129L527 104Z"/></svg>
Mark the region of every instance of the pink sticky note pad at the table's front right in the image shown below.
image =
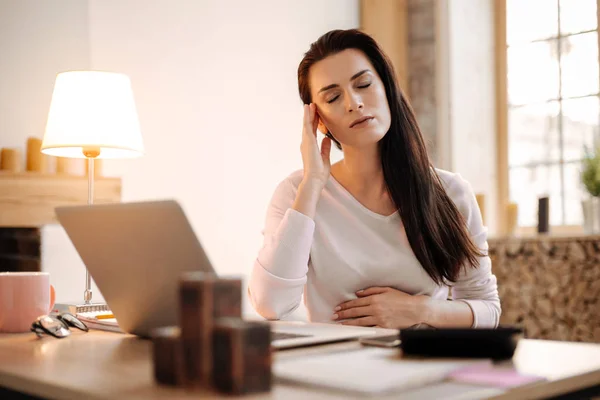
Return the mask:
<svg viewBox="0 0 600 400"><path fill-rule="evenodd" d="M500 388L512 388L544 380L540 376L521 374L514 369L494 367L465 368L453 372L449 378L463 383Z"/></svg>

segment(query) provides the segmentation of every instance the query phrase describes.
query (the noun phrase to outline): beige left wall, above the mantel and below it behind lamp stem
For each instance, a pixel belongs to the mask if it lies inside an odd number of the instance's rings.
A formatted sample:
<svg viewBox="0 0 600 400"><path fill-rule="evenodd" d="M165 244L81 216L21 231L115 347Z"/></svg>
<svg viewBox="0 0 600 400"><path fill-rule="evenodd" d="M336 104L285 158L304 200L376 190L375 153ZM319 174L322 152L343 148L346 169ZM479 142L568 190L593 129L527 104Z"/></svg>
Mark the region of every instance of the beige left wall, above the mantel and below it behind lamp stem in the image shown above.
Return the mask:
<svg viewBox="0 0 600 400"><path fill-rule="evenodd" d="M27 138L44 134L56 74L90 67L88 26L86 1L0 0L0 147L19 148L23 163ZM43 228L42 268L59 301L83 299L85 269L59 225Z"/></svg>

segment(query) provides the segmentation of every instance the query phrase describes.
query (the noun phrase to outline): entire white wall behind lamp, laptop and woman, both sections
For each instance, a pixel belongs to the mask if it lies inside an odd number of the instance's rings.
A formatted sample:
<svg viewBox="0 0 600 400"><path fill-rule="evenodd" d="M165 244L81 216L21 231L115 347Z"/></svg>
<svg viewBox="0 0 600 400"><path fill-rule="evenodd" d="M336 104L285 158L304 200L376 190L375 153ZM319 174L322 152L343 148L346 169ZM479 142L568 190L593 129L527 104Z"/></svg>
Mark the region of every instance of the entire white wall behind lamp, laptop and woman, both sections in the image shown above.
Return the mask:
<svg viewBox="0 0 600 400"><path fill-rule="evenodd" d="M43 135L56 73L128 74L147 154L104 173L125 201L179 200L218 272L246 275L275 186L302 165L298 63L321 34L357 26L356 0L0 0L0 147ZM57 299L80 299L68 237L47 226L42 241Z"/></svg>

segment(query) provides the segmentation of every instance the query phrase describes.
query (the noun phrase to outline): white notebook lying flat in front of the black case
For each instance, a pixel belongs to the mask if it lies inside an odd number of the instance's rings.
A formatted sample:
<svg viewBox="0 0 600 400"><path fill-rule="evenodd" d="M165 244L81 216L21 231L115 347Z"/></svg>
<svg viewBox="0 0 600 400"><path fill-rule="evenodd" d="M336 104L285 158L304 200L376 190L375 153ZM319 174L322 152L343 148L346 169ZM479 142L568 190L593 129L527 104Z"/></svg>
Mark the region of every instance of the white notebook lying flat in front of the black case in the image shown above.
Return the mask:
<svg viewBox="0 0 600 400"><path fill-rule="evenodd" d="M402 359L396 349L364 348L278 360L273 375L282 382L383 395L441 382L459 369L490 363L481 359Z"/></svg>

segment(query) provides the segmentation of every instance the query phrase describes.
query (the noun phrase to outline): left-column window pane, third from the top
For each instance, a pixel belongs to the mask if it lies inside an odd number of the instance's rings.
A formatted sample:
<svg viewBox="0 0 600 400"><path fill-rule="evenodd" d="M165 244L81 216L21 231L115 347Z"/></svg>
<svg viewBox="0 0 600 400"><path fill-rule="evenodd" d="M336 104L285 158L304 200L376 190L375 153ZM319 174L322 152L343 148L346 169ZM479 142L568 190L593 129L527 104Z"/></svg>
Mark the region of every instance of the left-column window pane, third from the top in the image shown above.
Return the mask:
<svg viewBox="0 0 600 400"><path fill-rule="evenodd" d="M508 165L560 161L557 101L510 108Z"/></svg>

